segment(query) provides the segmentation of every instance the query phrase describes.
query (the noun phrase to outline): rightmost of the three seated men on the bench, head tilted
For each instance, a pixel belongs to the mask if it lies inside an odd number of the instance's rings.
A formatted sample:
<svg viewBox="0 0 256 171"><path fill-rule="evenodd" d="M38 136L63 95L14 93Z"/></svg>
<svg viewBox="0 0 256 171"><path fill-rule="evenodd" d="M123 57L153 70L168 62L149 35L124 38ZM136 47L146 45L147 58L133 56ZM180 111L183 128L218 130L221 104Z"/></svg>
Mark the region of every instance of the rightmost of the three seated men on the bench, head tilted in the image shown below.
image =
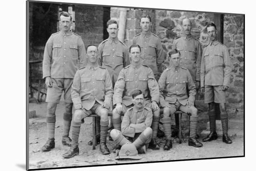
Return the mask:
<svg viewBox="0 0 256 171"><path fill-rule="evenodd" d="M158 82L160 104L163 107L162 123L167 139L163 149L169 150L172 148L170 115L174 114L176 110L190 114L189 146L201 147L202 143L195 139L198 118L197 109L194 107L196 93L195 83L189 70L180 67L180 52L173 49L169 52L169 57L171 57L171 66L163 71ZM164 88L167 90L165 98L163 94ZM187 89L189 92L187 92Z"/></svg>

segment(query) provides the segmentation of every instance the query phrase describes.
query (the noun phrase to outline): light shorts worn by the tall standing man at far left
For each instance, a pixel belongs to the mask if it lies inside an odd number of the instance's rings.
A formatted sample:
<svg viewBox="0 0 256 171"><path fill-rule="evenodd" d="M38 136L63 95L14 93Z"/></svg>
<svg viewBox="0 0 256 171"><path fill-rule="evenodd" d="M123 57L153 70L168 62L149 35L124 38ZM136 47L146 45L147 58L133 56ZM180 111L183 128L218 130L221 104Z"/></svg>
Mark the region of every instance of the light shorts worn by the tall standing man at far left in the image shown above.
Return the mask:
<svg viewBox="0 0 256 171"><path fill-rule="evenodd" d="M62 91L66 103L73 103L71 100L71 86L73 78L51 78L52 87L47 88L46 102L60 103Z"/></svg>

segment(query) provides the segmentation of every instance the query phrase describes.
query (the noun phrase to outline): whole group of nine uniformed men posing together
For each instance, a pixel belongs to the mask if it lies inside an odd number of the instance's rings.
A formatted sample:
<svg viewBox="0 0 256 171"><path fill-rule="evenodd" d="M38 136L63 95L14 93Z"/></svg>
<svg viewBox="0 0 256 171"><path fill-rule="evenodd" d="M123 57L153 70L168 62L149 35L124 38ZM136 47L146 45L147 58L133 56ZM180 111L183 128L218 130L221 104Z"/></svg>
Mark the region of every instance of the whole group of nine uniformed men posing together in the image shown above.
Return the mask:
<svg viewBox="0 0 256 171"><path fill-rule="evenodd" d="M100 116L100 151L110 153L106 145L108 111L113 114L114 129L110 136L115 149L127 144L139 153L145 153L147 148L160 149L156 141L160 107L163 108L161 122L166 137L164 150L172 148L170 116L176 110L190 115L189 146L201 147L202 143L196 139L198 115L194 106L200 88L209 104L210 134L203 141L217 139L215 102L219 103L221 111L222 140L232 143L227 133L225 107L230 58L227 48L216 39L216 25L207 25L210 43L202 52L200 42L191 36L191 21L183 19L183 36L174 40L173 48L168 52L170 65L160 78L157 71L164 62L164 50L161 40L151 32L149 15L141 16L142 32L135 35L129 48L117 38L118 23L115 20L108 20L108 39L98 47L89 44L86 49L81 37L71 31L71 25L72 16L61 12L61 31L52 34L45 46L43 78L47 85L48 139L41 151L55 147L55 111L63 91L62 144L70 146L63 154L64 158L79 154L81 123L91 114Z"/></svg>

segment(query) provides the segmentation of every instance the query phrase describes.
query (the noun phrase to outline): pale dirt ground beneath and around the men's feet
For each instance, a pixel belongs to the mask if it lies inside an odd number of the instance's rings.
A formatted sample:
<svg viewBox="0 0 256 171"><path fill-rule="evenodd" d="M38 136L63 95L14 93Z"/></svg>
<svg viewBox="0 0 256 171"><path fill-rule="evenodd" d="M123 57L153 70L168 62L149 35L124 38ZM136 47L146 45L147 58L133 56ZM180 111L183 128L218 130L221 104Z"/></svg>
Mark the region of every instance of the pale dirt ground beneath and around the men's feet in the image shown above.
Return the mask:
<svg viewBox="0 0 256 171"><path fill-rule="evenodd" d="M78 156L73 158L63 158L62 154L67 152L69 147L62 146L61 137L63 133L62 114L63 102L57 107L56 111L56 126L55 126L55 148L50 152L41 152L40 148L47 141L47 129L45 122L46 103L36 104L30 103L29 110L35 110L38 117L29 119L29 169L49 168L49 167L67 167L67 166L82 166L82 165L103 165L103 164L118 164L118 163L133 163L133 162L149 162L149 161L165 161L179 160L192 158L215 158L228 156L243 155L243 136L232 136L232 144L222 142L220 135L217 140L212 142L202 142L202 135L199 141L203 147L195 148L188 146L187 139L183 139L182 144L178 143L178 139L173 139L173 148L169 151L163 151L165 139L158 139L161 145L160 150L148 149L146 154L140 154L141 160L115 160L115 153L112 152L114 146L113 141L107 141L108 148L111 153L109 155L101 155L99 146L92 150L87 142L91 139L92 133L92 118L85 119L85 123L81 126L79 136Z"/></svg>

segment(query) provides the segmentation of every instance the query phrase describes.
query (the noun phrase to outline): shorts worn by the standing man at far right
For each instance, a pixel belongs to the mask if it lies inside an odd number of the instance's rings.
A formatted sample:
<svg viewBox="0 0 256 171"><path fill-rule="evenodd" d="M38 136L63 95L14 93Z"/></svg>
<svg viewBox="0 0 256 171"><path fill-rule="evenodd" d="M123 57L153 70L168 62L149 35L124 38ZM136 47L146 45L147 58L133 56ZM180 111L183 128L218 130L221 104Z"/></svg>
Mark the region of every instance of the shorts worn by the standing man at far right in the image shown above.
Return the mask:
<svg viewBox="0 0 256 171"><path fill-rule="evenodd" d="M222 85L204 86L204 102L205 103L226 103L226 91L222 90Z"/></svg>

